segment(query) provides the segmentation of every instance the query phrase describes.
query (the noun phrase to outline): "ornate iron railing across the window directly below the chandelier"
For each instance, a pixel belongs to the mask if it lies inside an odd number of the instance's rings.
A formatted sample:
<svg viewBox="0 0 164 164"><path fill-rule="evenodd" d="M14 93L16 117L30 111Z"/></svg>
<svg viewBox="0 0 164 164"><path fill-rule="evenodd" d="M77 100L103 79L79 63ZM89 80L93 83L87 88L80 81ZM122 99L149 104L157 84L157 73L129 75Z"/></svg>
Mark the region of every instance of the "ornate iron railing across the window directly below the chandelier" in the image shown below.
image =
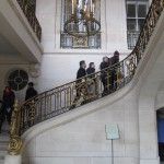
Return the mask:
<svg viewBox="0 0 164 164"><path fill-rule="evenodd" d="M96 33L95 35L89 37L79 37L61 32L60 47L65 49L99 49L101 33Z"/></svg>

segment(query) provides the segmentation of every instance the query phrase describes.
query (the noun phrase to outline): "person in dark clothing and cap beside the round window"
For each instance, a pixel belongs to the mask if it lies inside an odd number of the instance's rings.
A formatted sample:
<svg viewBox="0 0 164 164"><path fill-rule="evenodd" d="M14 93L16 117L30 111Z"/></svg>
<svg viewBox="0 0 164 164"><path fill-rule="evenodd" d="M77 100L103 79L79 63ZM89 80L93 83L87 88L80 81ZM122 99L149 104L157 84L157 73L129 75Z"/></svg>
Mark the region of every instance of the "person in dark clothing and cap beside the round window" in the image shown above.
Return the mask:
<svg viewBox="0 0 164 164"><path fill-rule="evenodd" d="M28 86L27 86L26 94L25 94L25 101L27 101L36 95L37 95L37 91L34 89L34 83L28 82Z"/></svg>

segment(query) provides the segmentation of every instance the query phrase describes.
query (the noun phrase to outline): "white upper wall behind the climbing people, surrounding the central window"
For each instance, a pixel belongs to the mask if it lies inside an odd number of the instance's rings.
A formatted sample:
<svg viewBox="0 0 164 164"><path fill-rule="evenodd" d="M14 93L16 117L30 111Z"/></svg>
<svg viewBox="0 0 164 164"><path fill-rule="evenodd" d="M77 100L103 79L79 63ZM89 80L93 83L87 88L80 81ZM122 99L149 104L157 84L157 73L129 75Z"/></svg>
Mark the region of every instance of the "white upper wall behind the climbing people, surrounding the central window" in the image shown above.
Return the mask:
<svg viewBox="0 0 164 164"><path fill-rule="evenodd" d="M120 60L129 55L124 0L102 0L102 49L60 49L61 0L37 0L36 7L44 47L39 92L75 80L80 60L87 65L95 62L98 71L103 56L112 57L116 49L120 52Z"/></svg>

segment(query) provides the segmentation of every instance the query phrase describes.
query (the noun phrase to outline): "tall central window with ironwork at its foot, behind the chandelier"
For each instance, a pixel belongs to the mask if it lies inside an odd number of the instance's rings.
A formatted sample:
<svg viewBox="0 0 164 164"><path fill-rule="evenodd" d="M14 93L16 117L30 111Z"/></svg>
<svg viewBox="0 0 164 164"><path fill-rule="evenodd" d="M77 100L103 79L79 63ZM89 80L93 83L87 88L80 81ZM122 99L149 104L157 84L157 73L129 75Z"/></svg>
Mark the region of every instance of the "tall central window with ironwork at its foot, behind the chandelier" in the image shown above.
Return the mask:
<svg viewBox="0 0 164 164"><path fill-rule="evenodd" d="M83 33L92 32L98 30L98 24L93 23L92 21L84 21L82 13L80 12L81 7L84 5L84 3L90 5L90 0L74 0L74 3L77 5L74 7L74 13L77 19L73 21L71 20L72 16L72 0L61 0L61 33L60 33L60 47L61 48L92 48L92 49L98 49L101 48L101 33L98 32L95 35L89 36L89 37L79 37L78 34L81 35ZM85 8L86 9L86 15L87 12L90 14L91 7ZM101 22L101 0L94 0L93 5L93 13L94 17ZM89 16L89 15L87 15ZM75 35L71 35L69 32L74 33ZM87 33L86 33L87 34ZM77 40L77 42L75 42Z"/></svg>

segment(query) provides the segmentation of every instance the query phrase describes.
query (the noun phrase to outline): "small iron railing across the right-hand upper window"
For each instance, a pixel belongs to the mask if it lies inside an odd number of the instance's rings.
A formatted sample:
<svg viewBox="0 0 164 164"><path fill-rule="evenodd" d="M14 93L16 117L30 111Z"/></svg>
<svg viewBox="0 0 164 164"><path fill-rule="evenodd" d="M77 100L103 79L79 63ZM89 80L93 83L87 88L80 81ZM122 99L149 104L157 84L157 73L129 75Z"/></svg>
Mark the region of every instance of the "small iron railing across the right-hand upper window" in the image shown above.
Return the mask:
<svg viewBox="0 0 164 164"><path fill-rule="evenodd" d="M139 38L140 32L138 31L128 31L127 32L127 43L128 43L128 49L133 49L138 38Z"/></svg>

